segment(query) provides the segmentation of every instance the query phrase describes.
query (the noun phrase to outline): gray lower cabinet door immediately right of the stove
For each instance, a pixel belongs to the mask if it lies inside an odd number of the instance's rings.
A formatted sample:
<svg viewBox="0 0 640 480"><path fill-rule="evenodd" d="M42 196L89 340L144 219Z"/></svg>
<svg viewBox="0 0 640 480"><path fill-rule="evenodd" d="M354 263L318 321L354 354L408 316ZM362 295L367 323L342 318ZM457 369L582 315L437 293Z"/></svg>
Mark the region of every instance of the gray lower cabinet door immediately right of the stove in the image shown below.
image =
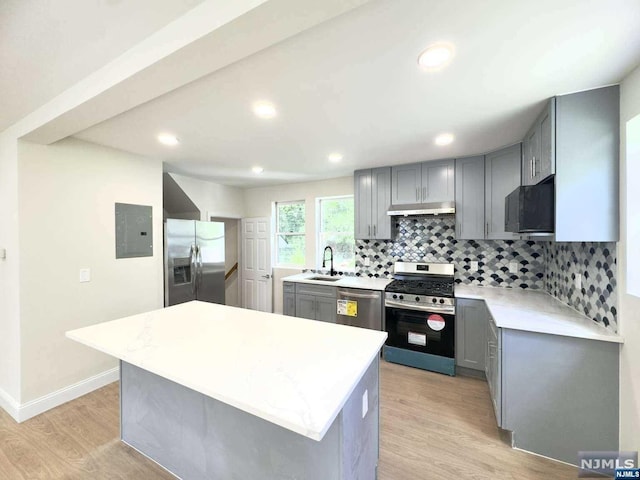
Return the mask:
<svg viewBox="0 0 640 480"><path fill-rule="evenodd" d="M484 300L456 300L456 365L484 371L488 321Z"/></svg>

